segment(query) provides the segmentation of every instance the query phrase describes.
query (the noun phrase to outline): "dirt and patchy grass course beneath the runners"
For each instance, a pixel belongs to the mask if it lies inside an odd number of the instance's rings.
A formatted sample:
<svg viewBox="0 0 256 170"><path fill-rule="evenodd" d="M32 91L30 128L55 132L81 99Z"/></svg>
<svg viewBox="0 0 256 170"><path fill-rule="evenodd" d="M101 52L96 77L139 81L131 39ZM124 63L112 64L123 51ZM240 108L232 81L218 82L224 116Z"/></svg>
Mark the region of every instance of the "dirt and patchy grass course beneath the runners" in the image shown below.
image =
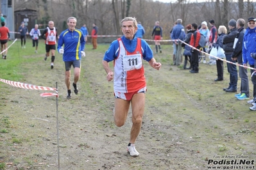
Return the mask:
<svg viewBox="0 0 256 170"><path fill-rule="evenodd" d="M121 128L113 122L113 86L101 66L103 50L89 50L83 58L80 92L71 100L65 98L60 56L53 70L43 54L37 56L41 62L32 63L37 65L33 73L31 63L22 65L26 83L55 87L58 82L61 169L207 169L207 159L214 156L255 159L255 112L234 93L223 93L226 70L223 82L213 82L216 66L201 64L200 73L191 75L170 65L169 48L155 56L163 65L160 71L144 63L148 92L138 158L126 153L130 119ZM1 123L10 127L0 136L0 161L13 163L7 169L58 169L55 97L1 87Z"/></svg>

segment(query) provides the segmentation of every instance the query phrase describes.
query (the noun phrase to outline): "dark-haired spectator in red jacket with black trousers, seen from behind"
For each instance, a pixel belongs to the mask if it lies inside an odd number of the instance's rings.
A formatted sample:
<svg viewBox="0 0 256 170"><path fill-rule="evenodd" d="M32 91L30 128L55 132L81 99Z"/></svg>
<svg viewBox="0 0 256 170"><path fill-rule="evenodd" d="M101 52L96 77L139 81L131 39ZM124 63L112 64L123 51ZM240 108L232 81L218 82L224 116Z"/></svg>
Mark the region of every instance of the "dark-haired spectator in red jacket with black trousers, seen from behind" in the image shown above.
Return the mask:
<svg viewBox="0 0 256 170"><path fill-rule="evenodd" d="M200 31L198 30L198 25L196 23L191 24L192 31L194 31L191 35L190 45L195 47L196 49L200 49L199 40L201 37ZM191 48L191 61L192 61L192 70L191 73L198 73L199 72L199 61L198 55L199 51L196 49Z"/></svg>

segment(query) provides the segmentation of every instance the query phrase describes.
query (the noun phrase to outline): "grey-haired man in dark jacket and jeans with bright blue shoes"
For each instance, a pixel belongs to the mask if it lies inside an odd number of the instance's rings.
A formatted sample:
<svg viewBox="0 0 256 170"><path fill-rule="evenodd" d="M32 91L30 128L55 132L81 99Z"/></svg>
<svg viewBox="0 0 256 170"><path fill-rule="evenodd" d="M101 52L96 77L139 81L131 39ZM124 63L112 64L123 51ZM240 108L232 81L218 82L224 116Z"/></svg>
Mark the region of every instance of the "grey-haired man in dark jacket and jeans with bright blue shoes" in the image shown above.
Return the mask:
<svg viewBox="0 0 256 170"><path fill-rule="evenodd" d="M231 59L237 61L239 65L243 65L242 49L243 49L243 39L244 39L244 19L237 20L237 31L239 32L235 37L234 51L232 53ZM239 66L239 77L241 78L240 91L241 93L236 94L238 100L244 100L249 98L249 79L247 75L247 68Z"/></svg>

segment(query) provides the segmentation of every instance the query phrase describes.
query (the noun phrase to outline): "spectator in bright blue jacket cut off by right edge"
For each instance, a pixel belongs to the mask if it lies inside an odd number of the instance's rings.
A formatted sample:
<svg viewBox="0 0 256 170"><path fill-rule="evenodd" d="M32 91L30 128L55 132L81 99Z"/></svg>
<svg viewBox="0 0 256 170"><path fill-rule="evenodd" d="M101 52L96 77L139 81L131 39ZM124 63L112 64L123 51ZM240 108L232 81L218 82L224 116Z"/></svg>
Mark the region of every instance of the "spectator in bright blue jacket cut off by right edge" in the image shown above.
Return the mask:
<svg viewBox="0 0 256 170"><path fill-rule="evenodd" d="M255 66L255 59L252 58L251 54L256 52L256 19L254 17L250 17L248 19L246 31L244 33L244 40L243 40L243 65L247 66L249 63L250 67L256 68ZM251 74L255 70L251 70ZM253 84L253 99L248 101L248 104L253 104L253 107L250 107L250 110L256 111L255 106L255 98L256 98L256 76L253 73L252 76L252 84Z"/></svg>

